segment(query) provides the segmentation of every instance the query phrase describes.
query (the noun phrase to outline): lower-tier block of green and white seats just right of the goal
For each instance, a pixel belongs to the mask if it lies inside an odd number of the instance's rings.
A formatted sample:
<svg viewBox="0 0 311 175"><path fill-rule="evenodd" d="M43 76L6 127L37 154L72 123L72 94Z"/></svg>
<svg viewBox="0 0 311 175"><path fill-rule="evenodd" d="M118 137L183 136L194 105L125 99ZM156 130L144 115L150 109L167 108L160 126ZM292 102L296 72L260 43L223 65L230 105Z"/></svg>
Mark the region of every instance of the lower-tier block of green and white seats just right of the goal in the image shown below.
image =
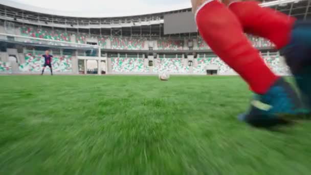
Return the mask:
<svg viewBox="0 0 311 175"><path fill-rule="evenodd" d="M144 58L111 58L112 72L115 73L145 73Z"/></svg>

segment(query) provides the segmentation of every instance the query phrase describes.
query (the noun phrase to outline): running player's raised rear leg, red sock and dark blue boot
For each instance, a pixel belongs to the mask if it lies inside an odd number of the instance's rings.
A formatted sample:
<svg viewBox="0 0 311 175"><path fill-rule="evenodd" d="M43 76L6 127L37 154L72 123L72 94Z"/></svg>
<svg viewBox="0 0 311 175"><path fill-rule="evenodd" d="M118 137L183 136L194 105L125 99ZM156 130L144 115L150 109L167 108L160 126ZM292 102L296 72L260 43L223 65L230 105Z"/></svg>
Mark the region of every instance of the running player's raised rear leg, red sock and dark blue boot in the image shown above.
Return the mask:
<svg viewBox="0 0 311 175"><path fill-rule="evenodd" d="M272 41L285 56L305 103L311 108L311 23L297 21L257 2L234 2L229 8L247 33Z"/></svg>

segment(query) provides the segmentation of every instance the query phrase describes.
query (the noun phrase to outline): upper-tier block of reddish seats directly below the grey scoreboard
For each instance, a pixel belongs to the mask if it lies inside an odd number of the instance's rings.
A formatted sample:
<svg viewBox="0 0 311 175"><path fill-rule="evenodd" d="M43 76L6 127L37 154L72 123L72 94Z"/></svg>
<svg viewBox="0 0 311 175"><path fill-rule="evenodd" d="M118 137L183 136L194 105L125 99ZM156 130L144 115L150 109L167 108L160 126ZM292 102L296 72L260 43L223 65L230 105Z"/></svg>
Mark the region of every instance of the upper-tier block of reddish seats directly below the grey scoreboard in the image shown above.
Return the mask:
<svg viewBox="0 0 311 175"><path fill-rule="evenodd" d="M184 41L162 38L158 40L157 46L158 50L183 50Z"/></svg>

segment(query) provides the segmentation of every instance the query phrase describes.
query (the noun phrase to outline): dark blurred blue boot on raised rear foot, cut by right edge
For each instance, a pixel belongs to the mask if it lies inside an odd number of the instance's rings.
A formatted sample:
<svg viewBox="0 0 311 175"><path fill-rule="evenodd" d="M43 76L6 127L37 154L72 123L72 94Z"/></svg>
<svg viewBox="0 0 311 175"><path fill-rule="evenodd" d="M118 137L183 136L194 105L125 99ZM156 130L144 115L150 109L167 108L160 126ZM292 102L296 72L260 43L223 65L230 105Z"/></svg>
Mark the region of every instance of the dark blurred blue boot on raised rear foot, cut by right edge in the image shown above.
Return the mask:
<svg viewBox="0 0 311 175"><path fill-rule="evenodd" d="M311 109L311 21L296 21L290 43L280 53L291 69L304 105Z"/></svg>

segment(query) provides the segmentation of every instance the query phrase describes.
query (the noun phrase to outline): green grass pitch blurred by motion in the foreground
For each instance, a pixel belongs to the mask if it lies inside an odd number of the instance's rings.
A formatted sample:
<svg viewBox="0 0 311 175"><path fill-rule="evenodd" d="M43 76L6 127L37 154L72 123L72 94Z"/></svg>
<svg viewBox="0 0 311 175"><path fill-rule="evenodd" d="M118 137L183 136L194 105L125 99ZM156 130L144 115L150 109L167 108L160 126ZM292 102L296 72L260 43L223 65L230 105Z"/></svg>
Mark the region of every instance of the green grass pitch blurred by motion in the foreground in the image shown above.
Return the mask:
<svg viewBox="0 0 311 175"><path fill-rule="evenodd" d="M238 77L0 76L0 174L310 174L311 124L236 119Z"/></svg>

